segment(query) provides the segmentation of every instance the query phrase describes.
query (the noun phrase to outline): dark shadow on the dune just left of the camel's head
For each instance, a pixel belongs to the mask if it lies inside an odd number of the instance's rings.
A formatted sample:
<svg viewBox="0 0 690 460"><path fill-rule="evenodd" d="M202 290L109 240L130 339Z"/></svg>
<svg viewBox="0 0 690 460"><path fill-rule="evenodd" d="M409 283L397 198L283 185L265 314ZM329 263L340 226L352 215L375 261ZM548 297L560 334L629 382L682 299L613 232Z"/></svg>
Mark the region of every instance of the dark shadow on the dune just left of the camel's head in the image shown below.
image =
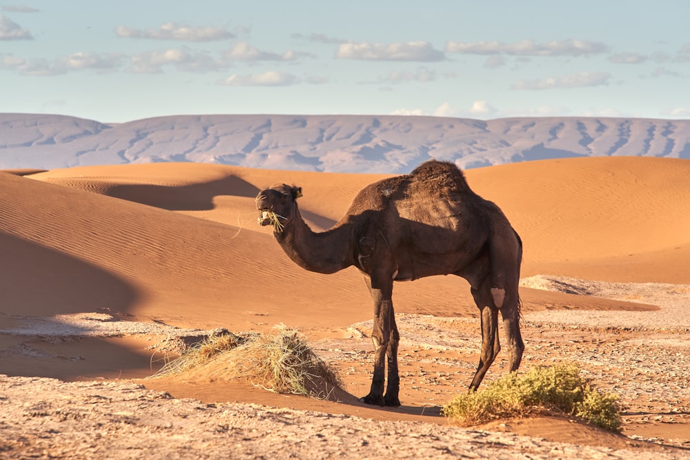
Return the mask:
<svg viewBox="0 0 690 460"><path fill-rule="evenodd" d="M109 197L134 201L169 211L208 211L215 205L213 198L219 195L254 198L259 189L252 184L230 176L188 186L158 186L150 184L117 185L106 191Z"/></svg>

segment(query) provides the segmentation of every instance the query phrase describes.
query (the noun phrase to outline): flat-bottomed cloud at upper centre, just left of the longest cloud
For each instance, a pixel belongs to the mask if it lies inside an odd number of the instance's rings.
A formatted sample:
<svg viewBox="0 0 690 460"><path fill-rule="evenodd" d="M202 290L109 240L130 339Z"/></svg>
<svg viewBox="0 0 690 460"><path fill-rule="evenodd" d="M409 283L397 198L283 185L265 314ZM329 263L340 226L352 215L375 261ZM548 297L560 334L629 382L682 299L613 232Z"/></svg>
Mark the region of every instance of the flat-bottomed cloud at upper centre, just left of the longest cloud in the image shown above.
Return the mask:
<svg viewBox="0 0 690 460"><path fill-rule="evenodd" d="M397 43L342 43L335 52L337 59L364 59L371 61L444 61L444 53L435 50L426 41Z"/></svg>

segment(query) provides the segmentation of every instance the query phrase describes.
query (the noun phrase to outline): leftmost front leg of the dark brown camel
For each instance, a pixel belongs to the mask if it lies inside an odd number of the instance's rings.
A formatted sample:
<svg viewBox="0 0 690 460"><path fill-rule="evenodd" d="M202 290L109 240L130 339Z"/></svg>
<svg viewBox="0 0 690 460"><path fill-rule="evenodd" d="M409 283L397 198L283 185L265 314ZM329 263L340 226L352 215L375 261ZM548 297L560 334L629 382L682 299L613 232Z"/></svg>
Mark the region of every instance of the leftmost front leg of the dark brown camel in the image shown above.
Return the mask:
<svg viewBox="0 0 690 460"><path fill-rule="evenodd" d="M391 299L393 294L393 279L388 282L377 283L376 281L367 280L367 285L371 290L371 297L374 302L374 324L371 331L371 340L374 343L374 374L371 379L371 390L365 397L359 401L376 406L385 406L384 399L384 382L386 377L386 353L391 344L391 325L395 323L393 318L393 301ZM396 335L397 337L397 328ZM395 343L397 352L397 341ZM397 357L395 358L395 370L397 372ZM399 377L395 375L395 381L399 384ZM394 382L395 384L395 382ZM391 385L391 382L388 382ZM397 399L397 392L395 392L395 399ZM400 405L398 403L398 405Z"/></svg>

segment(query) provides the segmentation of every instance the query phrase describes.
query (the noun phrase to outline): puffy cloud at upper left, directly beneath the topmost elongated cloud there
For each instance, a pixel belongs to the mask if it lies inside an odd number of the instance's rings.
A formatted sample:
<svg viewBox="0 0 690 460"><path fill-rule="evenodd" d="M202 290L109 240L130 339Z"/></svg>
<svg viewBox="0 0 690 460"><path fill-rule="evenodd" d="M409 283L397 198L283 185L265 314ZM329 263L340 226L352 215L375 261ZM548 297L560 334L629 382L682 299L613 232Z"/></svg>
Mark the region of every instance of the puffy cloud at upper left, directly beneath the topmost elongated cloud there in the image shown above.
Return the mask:
<svg viewBox="0 0 690 460"><path fill-rule="evenodd" d="M226 67L208 54L170 48L135 54L126 70L139 74L159 74L163 72L164 66L174 66L177 70L188 72L210 72Z"/></svg>

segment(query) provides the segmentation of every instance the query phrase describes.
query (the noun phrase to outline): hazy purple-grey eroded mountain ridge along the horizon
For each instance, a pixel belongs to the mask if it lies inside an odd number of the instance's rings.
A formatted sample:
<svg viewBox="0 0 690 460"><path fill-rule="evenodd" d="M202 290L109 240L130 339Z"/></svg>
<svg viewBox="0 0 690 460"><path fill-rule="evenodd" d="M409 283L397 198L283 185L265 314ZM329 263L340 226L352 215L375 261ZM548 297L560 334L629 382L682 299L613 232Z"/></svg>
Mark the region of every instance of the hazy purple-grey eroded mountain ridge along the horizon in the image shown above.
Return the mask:
<svg viewBox="0 0 690 460"><path fill-rule="evenodd" d="M565 157L690 159L690 120L178 115L127 123L0 114L0 169L192 161L275 170L410 172Z"/></svg>

